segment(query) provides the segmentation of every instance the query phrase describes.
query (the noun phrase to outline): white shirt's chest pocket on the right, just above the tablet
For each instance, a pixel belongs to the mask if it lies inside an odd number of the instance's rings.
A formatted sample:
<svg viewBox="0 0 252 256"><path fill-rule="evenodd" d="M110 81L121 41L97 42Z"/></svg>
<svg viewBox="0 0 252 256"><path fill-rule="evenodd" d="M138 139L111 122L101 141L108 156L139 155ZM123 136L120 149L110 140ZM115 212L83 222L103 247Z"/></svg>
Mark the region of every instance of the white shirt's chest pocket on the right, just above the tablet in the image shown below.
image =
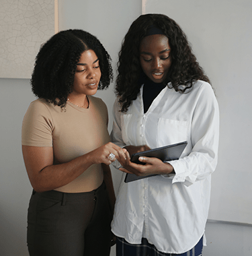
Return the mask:
<svg viewBox="0 0 252 256"><path fill-rule="evenodd" d="M189 141L189 122L160 118L157 124L157 137L160 147L181 141Z"/></svg>

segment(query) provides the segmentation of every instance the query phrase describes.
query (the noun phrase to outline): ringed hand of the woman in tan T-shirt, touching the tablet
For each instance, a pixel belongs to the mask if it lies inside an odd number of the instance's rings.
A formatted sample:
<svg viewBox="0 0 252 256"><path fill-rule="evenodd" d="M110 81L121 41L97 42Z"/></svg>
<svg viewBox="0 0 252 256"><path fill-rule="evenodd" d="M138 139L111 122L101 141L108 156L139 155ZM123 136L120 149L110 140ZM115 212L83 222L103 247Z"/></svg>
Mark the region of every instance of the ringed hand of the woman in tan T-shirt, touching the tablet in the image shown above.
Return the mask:
<svg viewBox="0 0 252 256"><path fill-rule="evenodd" d="M87 153L89 154L89 157L91 157L91 162L93 164L111 164L112 162L116 161L116 159L122 159L126 158L126 148L120 148L116 144L109 142L106 143L105 145ZM110 154L114 154L113 159L109 159L108 157Z"/></svg>

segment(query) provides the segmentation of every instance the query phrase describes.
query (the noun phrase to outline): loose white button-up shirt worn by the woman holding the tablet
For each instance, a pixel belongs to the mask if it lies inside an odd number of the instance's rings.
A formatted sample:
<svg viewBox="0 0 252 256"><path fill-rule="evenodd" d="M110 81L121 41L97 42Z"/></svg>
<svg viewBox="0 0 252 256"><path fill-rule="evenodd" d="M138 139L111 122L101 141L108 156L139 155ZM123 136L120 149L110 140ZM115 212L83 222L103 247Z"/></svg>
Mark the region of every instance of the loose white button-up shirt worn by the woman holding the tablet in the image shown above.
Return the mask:
<svg viewBox="0 0 252 256"><path fill-rule="evenodd" d="M198 243L206 226L217 164L218 103L210 84L198 81L187 94L165 87L144 113L142 88L126 113L116 100L112 141L122 147L188 144L179 160L169 162L175 174L130 183L122 175L112 231L140 244L144 230L159 251L184 253Z"/></svg>

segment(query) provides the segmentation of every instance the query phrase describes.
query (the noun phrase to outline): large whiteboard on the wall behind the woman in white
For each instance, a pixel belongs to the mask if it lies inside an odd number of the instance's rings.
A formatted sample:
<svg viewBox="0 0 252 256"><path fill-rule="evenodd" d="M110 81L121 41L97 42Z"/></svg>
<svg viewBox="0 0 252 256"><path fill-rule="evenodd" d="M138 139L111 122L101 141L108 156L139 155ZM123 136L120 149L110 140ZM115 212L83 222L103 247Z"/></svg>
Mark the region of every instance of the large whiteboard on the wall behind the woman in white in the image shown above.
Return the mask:
<svg viewBox="0 0 252 256"><path fill-rule="evenodd" d="M175 20L215 88L218 166L209 219L252 224L252 1L144 0L146 13Z"/></svg>

